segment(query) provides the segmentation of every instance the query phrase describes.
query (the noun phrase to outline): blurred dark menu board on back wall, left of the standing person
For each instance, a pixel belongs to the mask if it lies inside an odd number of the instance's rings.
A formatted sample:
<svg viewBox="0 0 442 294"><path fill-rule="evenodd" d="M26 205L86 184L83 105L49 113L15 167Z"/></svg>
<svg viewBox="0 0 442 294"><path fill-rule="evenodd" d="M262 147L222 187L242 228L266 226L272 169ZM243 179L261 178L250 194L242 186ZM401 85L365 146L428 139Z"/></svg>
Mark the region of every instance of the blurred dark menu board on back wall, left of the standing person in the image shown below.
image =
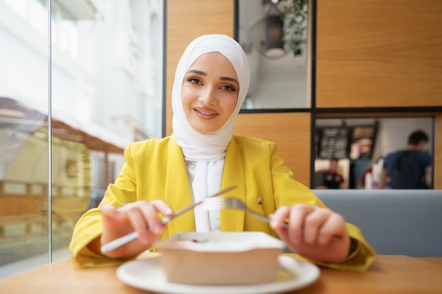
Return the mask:
<svg viewBox="0 0 442 294"><path fill-rule="evenodd" d="M371 159L377 125L316 129L317 159Z"/></svg>

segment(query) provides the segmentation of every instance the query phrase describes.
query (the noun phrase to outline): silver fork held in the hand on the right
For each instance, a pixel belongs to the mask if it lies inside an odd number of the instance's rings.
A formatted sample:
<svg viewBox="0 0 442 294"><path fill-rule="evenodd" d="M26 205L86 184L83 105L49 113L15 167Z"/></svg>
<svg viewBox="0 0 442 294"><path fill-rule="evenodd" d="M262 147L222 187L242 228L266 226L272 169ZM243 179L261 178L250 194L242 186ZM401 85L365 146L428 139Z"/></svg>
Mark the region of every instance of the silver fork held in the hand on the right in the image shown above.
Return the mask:
<svg viewBox="0 0 442 294"><path fill-rule="evenodd" d="M241 209L245 212L249 212L251 215L255 216L257 219L261 219L267 223L270 223L270 218L258 212L255 212L253 209L246 207L246 204L234 197L216 197L213 201L203 202L201 204L200 209L203 210L217 210L217 209ZM284 228L289 227L288 220L285 220L285 223L282 225ZM333 240L340 241L342 237L340 235L333 235Z"/></svg>

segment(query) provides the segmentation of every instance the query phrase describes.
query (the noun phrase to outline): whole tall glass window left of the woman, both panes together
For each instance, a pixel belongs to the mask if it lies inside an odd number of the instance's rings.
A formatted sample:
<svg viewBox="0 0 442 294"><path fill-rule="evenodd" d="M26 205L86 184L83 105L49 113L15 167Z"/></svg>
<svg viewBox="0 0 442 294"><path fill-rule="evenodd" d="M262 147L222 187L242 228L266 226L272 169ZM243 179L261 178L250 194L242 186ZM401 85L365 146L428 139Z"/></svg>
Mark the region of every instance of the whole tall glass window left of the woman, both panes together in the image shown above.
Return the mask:
<svg viewBox="0 0 442 294"><path fill-rule="evenodd" d="M0 0L0 278L48 262L48 228L70 255L126 144L162 136L161 30L160 0Z"/></svg>

